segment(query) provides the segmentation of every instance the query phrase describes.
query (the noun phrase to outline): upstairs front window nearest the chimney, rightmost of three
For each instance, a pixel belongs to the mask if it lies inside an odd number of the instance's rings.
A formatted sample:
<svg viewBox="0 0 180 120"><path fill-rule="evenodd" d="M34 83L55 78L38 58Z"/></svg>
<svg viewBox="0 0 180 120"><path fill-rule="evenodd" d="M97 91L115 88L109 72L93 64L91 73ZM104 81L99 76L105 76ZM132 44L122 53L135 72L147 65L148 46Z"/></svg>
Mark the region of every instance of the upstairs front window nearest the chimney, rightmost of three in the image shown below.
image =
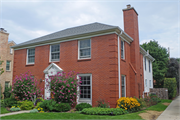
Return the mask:
<svg viewBox="0 0 180 120"><path fill-rule="evenodd" d="M91 58L91 40L79 41L79 59Z"/></svg>

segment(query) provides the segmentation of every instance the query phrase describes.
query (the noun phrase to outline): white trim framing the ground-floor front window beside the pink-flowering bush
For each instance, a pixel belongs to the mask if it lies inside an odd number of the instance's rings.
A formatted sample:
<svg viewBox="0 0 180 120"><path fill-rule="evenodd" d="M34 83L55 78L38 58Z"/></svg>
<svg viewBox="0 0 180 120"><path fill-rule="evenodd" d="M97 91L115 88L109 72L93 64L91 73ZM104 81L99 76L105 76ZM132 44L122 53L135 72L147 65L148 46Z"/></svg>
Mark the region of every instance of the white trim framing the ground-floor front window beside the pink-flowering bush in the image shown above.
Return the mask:
<svg viewBox="0 0 180 120"><path fill-rule="evenodd" d="M79 94L79 96L77 96L77 104L84 102L84 103L90 103L92 105L92 74L78 74L78 79L80 76L90 76L91 99L80 99L80 94ZM79 87L78 90L80 90Z"/></svg>

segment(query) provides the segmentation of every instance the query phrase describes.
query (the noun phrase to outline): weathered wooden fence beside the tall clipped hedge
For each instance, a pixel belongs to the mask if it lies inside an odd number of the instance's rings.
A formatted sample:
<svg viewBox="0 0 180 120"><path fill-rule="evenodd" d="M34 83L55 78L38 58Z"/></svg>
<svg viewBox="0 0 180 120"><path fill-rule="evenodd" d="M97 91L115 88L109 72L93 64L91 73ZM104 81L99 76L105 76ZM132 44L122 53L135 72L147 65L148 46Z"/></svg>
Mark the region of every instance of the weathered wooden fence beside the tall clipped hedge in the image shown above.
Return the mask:
<svg viewBox="0 0 180 120"><path fill-rule="evenodd" d="M150 88L150 92L155 93L160 99L168 99L168 89L167 88Z"/></svg>

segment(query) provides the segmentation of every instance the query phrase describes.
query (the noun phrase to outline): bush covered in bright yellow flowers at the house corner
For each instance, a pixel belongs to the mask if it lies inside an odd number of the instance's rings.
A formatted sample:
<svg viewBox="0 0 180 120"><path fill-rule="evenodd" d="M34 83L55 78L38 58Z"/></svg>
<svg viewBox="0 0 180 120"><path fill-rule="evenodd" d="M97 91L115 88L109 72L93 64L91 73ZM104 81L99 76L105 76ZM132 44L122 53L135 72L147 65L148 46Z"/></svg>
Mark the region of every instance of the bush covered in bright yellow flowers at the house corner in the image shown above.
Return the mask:
<svg viewBox="0 0 180 120"><path fill-rule="evenodd" d="M116 108L122 108L128 110L129 112L138 111L141 104L136 100L136 98L121 97L117 100Z"/></svg>

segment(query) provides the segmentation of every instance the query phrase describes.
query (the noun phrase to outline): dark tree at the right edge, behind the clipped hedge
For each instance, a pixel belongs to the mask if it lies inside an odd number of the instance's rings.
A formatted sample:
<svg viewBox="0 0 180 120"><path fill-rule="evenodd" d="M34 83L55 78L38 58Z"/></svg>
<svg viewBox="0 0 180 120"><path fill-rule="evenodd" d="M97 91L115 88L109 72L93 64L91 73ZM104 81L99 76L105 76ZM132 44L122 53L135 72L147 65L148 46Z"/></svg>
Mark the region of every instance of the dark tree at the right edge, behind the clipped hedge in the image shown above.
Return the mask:
<svg viewBox="0 0 180 120"><path fill-rule="evenodd" d="M177 87L179 88L179 63L177 59L170 58L168 62L167 78L176 78Z"/></svg>

